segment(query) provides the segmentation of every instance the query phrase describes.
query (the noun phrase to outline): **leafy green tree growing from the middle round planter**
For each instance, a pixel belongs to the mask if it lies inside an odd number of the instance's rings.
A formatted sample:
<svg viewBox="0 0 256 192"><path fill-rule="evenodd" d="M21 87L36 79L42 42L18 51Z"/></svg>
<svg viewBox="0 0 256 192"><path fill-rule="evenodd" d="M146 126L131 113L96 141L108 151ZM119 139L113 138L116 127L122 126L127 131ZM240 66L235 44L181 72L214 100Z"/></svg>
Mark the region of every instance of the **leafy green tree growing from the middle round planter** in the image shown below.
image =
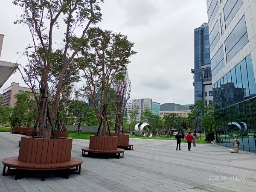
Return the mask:
<svg viewBox="0 0 256 192"><path fill-rule="evenodd" d="M129 58L136 52L132 50L134 43L120 33L90 28L87 34L79 49L78 59L84 72L82 77L87 81L82 90L93 103L99 121L98 134L99 131L105 134L109 91L116 79L125 77L127 65L130 63ZM96 105L97 100L100 100L99 108Z"/></svg>

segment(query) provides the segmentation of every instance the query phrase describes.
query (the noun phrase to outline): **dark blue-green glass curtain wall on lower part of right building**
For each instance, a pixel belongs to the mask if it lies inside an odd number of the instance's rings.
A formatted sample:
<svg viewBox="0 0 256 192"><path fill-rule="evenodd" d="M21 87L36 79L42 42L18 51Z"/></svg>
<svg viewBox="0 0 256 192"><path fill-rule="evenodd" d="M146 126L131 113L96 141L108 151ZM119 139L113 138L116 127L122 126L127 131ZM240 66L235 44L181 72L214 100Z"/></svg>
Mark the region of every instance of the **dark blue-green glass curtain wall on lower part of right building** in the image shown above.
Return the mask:
<svg viewBox="0 0 256 192"><path fill-rule="evenodd" d="M256 87L251 55L213 85L216 138L234 148L237 135L241 150L256 152Z"/></svg>

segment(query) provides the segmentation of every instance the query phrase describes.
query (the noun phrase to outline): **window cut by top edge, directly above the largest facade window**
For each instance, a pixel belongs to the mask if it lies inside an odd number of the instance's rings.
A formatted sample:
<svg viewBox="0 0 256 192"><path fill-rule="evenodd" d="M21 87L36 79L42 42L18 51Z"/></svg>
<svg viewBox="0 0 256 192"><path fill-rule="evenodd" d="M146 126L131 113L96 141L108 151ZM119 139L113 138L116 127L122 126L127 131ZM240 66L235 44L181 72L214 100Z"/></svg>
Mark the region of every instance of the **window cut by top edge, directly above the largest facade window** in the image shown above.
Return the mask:
<svg viewBox="0 0 256 192"><path fill-rule="evenodd" d="M242 0L228 0L226 5L224 6L224 19L225 19L225 26L226 29L235 17L236 13L240 9L241 5L243 4Z"/></svg>

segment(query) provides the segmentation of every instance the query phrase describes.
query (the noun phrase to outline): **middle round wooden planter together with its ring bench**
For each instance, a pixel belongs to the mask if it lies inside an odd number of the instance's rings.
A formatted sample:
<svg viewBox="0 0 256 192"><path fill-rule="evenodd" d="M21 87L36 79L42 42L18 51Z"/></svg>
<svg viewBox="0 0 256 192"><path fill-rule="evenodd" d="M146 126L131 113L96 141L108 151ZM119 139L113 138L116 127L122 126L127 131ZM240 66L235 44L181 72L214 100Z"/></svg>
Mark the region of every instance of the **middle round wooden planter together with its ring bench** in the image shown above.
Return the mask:
<svg viewBox="0 0 256 192"><path fill-rule="evenodd" d="M90 144L89 147L81 148L82 155L85 157L85 152L88 152L87 156L96 157L96 154L105 154L105 157L108 158L108 154L113 154L113 157L120 157L120 153L122 153L122 157L124 155L124 149L117 148L118 137L110 137L110 136L90 136Z"/></svg>

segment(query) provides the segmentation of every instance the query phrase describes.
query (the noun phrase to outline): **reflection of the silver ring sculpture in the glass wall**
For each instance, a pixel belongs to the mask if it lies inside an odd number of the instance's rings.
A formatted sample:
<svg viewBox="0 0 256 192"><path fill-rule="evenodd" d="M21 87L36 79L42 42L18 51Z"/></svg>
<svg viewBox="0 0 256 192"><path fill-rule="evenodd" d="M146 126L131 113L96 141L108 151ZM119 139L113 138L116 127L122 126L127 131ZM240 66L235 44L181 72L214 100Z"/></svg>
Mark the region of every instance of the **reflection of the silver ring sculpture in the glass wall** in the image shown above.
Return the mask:
<svg viewBox="0 0 256 192"><path fill-rule="evenodd" d="M234 135L241 136L241 135L247 134L247 125L245 122L230 122L227 124L227 128L228 128L228 134L230 136L234 136Z"/></svg>

